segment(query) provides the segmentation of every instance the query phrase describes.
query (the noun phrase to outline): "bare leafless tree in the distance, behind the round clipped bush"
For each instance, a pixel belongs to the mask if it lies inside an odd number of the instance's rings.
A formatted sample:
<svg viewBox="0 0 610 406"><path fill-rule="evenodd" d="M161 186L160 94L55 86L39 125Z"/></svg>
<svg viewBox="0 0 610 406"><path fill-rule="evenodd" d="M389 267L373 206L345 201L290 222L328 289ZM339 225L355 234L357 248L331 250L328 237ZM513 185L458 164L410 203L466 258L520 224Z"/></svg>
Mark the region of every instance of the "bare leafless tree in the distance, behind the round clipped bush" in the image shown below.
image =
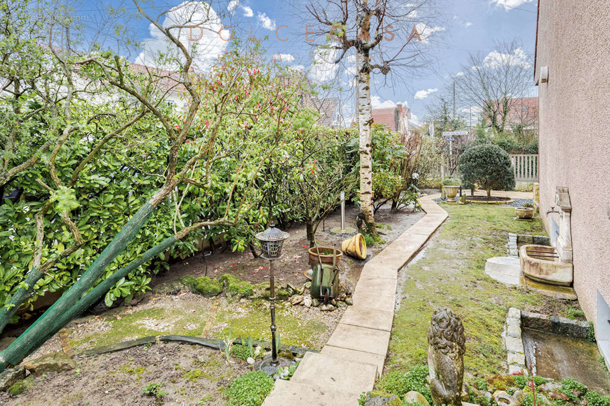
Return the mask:
<svg viewBox="0 0 610 406"><path fill-rule="evenodd" d="M496 43L489 54L469 54L454 78L459 98L483 109L489 127L503 133L514 100L531 89L531 63L518 41Z"/></svg>

